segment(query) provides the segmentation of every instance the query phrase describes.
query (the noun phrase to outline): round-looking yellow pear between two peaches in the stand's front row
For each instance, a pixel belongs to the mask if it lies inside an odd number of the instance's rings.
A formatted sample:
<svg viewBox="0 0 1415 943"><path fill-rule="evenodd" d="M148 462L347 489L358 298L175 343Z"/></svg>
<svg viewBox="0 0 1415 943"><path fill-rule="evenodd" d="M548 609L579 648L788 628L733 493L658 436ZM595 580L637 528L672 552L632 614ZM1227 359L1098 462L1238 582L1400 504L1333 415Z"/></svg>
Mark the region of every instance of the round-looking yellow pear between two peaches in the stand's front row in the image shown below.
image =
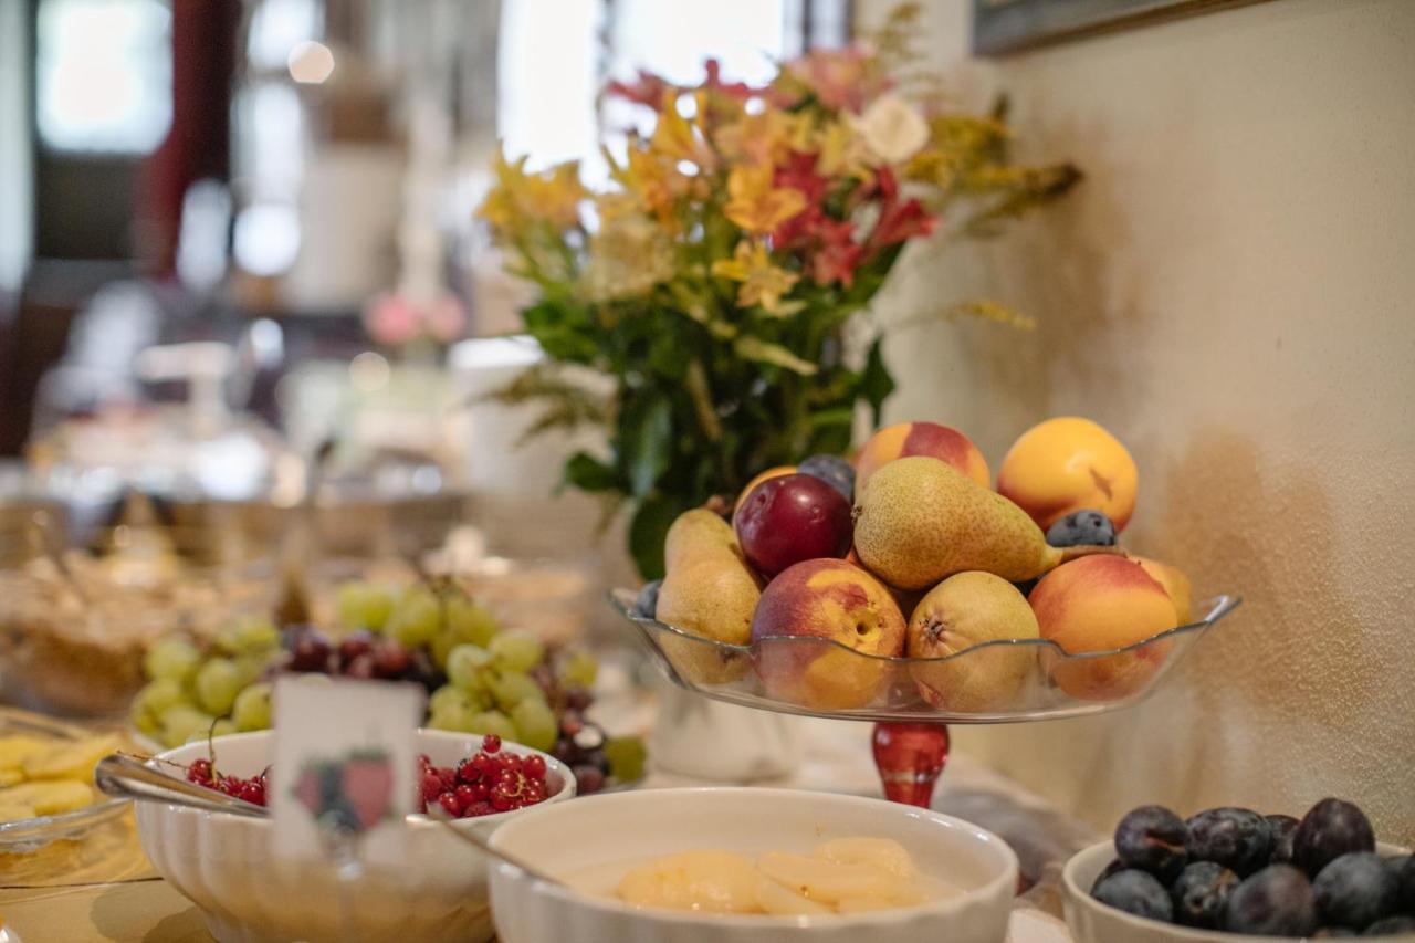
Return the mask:
<svg viewBox="0 0 1415 943"><path fill-rule="evenodd" d="M1036 639L1037 617L1027 599L1002 576L969 571L934 586L908 620L910 674L928 704L972 714L1010 707L1037 663L1033 646L989 646L958 654L985 641Z"/></svg>

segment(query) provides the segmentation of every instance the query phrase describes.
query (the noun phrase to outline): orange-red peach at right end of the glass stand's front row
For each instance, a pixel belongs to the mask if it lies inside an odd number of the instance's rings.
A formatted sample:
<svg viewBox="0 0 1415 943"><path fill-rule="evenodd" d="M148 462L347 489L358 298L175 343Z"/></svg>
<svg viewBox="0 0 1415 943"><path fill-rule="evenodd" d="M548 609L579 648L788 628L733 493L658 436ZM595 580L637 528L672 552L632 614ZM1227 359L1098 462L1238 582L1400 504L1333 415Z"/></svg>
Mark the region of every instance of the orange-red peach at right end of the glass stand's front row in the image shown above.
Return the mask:
<svg viewBox="0 0 1415 943"><path fill-rule="evenodd" d="M1177 624L1165 588L1124 556L1081 556L1061 564L1041 578L1027 602L1041 637L1068 654L1124 648ZM1166 640L1102 658L1053 656L1049 671L1074 698L1116 701L1143 688L1169 648Z"/></svg>

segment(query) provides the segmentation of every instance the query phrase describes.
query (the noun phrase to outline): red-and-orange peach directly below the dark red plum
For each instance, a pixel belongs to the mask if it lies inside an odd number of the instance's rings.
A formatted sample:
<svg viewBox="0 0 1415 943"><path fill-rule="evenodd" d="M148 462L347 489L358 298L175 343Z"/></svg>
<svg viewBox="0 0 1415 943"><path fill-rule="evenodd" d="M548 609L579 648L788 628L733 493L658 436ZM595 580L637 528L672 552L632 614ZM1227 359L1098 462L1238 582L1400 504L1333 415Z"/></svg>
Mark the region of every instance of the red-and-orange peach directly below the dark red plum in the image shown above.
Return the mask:
<svg viewBox="0 0 1415 943"><path fill-rule="evenodd" d="M904 629L904 616L880 581L843 559L808 559L782 571L761 593L751 617L753 660L774 698L816 711L859 708L880 694L891 665L856 653L899 657Z"/></svg>

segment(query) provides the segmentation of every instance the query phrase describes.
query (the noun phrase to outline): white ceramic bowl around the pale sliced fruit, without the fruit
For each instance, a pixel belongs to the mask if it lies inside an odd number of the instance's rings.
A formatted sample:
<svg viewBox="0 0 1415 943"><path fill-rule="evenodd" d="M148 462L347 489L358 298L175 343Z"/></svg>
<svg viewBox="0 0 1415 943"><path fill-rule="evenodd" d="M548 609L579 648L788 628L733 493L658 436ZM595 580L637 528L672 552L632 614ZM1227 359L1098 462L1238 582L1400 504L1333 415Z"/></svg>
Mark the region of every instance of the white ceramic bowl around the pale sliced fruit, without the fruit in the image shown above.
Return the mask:
<svg viewBox="0 0 1415 943"><path fill-rule="evenodd" d="M893 838L921 874L962 893L896 910L770 918L638 909L491 865L501 943L1002 943L1017 857L992 833L925 808L787 789L661 789L526 810L491 842L552 876L611 865L610 885L648 858L720 848L809 852L831 838Z"/></svg>

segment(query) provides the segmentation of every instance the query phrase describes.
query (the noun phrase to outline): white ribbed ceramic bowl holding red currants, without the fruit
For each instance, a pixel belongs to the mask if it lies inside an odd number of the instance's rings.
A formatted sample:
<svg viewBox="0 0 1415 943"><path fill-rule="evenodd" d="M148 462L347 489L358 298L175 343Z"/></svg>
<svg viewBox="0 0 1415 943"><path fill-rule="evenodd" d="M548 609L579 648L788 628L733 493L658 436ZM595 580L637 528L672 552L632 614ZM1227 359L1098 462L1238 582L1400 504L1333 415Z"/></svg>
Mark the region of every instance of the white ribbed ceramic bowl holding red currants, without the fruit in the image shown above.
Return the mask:
<svg viewBox="0 0 1415 943"><path fill-rule="evenodd" d="M269 763L272 742L269 731L216 738L218 763L228 773L255 776ZM481 738L473 733L417 731L417 752L427 753L437 766L450 766L478 749ZM516 743L504 743L502 750L536 752ZM167 750L158 759L190 765L202 756L205 742ZM558 777L562 783L545 804L574 796L570 772L553 758L541 756L546 780ZM525 810L467 818L457 827L490 834L522 814ZM221 943L433 943L492 936L485 855L432 820L412 823L406 859L396 867L365 869L347 895L352 918L347 927L334 868L273 858L269 833L267 820L137 803L143 851L168 884L201 908L207 927Z"/></svg>

